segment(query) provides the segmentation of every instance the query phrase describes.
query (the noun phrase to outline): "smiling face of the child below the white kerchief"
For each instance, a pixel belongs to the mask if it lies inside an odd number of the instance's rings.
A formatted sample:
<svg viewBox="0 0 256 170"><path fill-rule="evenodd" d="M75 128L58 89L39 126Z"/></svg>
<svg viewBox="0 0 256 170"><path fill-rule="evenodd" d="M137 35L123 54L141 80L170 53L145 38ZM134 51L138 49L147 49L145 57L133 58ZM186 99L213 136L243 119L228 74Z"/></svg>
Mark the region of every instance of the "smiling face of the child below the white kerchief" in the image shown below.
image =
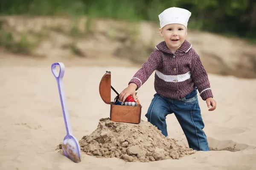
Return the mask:
<svg viewBox="0 0 256 170"><path fill-rule="evenodd" d="M164 26L163 29L159 29L159 31L160 35L164 38L167 47L172 52L175 52L180 48L187 35L186 27L177 23L168 24Z"/></svg>

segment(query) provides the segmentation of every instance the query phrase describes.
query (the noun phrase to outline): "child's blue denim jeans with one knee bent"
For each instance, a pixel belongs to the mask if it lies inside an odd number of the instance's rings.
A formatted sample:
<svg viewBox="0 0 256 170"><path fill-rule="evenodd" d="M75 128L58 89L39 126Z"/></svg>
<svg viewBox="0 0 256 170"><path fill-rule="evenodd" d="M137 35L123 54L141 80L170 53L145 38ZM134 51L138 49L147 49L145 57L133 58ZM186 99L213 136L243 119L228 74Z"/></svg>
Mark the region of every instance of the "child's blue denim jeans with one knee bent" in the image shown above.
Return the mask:
<svg viewBox="0 0 256 170"><path fill-rule="evenodd" d="M167 136L166 116L174 113L186 136L189 147L194 150L208 151L204 122L198 104L197 89L194 89L180 101L155 94L146 113L148 121Z"/></svg>

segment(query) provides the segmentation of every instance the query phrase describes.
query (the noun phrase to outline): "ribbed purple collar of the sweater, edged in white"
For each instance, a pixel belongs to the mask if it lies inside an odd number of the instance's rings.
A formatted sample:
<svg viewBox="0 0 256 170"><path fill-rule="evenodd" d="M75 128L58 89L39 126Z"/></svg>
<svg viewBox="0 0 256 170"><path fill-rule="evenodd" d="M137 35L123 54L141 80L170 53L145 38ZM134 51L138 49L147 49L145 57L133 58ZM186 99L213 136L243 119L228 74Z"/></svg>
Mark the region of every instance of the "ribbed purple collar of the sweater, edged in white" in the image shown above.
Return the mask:
<svg viewBox="0 0 256 170"><path fill-rule="evenodd" d="M188 52L189 49L191 49L191 47L192 47L192 44L190 44L187 40L185 40L181 44L180 48L177 49L177 51L175 52L175 55L184 54L184 53ZM162 52L165 52L165 53L173 55L171 50L169 50L168 47L166 46L166 42L165 41L162 41L159 44L157 44L156 49L158 49L159 51L162 51Z"/></svg>

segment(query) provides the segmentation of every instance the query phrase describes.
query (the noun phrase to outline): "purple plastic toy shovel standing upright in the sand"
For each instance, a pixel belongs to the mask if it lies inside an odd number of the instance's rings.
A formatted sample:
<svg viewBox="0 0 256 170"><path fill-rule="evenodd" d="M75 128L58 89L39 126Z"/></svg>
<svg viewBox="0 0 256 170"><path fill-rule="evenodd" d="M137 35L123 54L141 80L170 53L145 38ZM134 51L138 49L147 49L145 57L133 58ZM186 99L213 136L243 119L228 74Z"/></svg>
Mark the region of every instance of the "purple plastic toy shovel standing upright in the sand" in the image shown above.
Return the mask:
<svg viewBox="0 0 256 170"><path fill-rule="evenodd" d="M59 66L59 73L56 70L56 66ZM63 63L53 63L52 64L52 74L57 80L58 84L58 91L61 98L61 107L64 116L64 122L66 125L67 135L64 137L64 141L62 143L62 150L64 155L67 158L70 158L72 161L78 163L81 161L80 159L80 145L78 140L73 136L73 131L70 124L69 112L67 109L67 101L64 92L64 85L63 85L63 76L65 72L65 66Z"/></svg>

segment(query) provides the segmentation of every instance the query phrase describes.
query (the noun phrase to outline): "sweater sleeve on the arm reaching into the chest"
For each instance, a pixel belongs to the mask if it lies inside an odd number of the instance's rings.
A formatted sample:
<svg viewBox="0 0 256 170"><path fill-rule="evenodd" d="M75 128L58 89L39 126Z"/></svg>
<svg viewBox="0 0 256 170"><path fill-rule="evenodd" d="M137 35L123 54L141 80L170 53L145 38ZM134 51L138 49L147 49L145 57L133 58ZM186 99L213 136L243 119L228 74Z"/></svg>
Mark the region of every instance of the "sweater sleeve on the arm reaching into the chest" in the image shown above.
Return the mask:
<svg viewBox="0 0 256 170"><path fill-rule="evenodd" d="M137 85L137 89L140 88L150 77L150 75L157 69L162 61L161 52L154 50L151 52L148 60L143 63L142 67L135 73L131 81L128 83L134 83ZM136 89L136 90L137 90Z"/></svg>

